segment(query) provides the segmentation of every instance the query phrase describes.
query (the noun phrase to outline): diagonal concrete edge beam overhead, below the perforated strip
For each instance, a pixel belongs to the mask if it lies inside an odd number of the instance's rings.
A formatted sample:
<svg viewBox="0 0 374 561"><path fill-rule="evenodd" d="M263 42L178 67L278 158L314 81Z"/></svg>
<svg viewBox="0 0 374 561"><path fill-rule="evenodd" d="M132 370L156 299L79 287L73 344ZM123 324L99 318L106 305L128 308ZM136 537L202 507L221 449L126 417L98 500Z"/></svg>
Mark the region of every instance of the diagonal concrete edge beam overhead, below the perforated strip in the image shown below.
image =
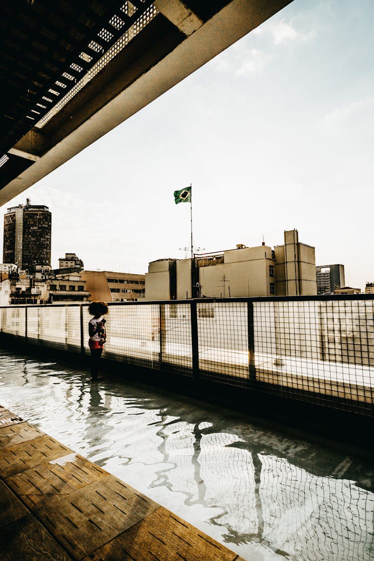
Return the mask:
<svg viewBox="0 0 374 561"><path fill-rule="evenodd" d="M43 127L40 132L45 137L45 153L17 177L7 180L0 190L0 205L140 111L291 1L232 0L187 37L159 13ZM30 144L27 146L23 150L18 145L15 148L34 154ZM4 176L8 165L1 168Z"/></svg>

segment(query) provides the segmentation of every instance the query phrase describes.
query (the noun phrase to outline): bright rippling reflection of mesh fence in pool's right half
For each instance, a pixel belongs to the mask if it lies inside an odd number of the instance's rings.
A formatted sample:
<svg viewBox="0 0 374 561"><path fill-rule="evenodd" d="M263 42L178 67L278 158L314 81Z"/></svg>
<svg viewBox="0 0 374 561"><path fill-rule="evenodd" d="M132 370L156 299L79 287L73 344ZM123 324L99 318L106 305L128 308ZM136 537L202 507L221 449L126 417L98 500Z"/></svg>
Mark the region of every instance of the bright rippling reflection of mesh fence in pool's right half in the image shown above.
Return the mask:
<svg viewBox="0 0 374 561"><path fill-rule="evenodd" d="M300 561L371 559L371 491L237 447L229 432L201 430L182 421L163 427L164 458L157 459L167 468L153 484L183 493L186 504L219 508L211 520L226 528L228 542L261 541Z"/></svg>

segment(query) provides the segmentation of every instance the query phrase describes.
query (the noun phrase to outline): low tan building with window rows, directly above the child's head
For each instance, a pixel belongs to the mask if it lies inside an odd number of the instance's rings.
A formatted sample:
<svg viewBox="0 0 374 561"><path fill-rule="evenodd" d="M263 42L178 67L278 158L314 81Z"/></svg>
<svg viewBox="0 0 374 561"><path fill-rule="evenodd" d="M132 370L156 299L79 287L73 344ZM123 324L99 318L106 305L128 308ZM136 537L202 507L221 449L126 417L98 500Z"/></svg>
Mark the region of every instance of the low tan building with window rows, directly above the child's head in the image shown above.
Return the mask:
<svg viewBox="0 0 374 561"><path fill-rule="evenodd" d="M91 300L136 302L145 296L145 277L140 274L113 271L82 271Z"/></svg>

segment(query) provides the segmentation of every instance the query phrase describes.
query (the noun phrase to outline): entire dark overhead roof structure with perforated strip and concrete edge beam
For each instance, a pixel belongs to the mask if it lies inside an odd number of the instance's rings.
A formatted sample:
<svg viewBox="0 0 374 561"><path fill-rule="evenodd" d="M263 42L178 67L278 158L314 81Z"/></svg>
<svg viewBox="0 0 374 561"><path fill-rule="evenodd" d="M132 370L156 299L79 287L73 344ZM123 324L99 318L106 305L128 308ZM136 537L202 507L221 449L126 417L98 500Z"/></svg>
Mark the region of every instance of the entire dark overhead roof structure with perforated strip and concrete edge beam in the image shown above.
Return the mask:
<svg viewBox="0 0 374 561"><path fill-rule="evenodd" d="M3 3L0 205L291 1Z"/></svg>

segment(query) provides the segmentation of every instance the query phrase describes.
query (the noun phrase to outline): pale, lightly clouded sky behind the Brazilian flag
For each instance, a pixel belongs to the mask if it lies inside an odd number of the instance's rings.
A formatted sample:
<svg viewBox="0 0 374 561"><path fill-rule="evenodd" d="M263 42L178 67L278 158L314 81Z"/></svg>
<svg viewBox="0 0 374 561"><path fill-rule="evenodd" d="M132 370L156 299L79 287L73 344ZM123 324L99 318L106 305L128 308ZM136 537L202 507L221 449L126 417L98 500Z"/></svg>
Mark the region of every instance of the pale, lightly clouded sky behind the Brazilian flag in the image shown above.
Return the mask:
<svg viewBox="0 0 374 561"><path fill-rule="evenodd" d="M147 272L196 252L283 243L374 280L374 2L294 0L3 205L52 212L52 267ZM1 223L3 220L1 220ZM2 236L1 236L2 241Z"/></svg>

